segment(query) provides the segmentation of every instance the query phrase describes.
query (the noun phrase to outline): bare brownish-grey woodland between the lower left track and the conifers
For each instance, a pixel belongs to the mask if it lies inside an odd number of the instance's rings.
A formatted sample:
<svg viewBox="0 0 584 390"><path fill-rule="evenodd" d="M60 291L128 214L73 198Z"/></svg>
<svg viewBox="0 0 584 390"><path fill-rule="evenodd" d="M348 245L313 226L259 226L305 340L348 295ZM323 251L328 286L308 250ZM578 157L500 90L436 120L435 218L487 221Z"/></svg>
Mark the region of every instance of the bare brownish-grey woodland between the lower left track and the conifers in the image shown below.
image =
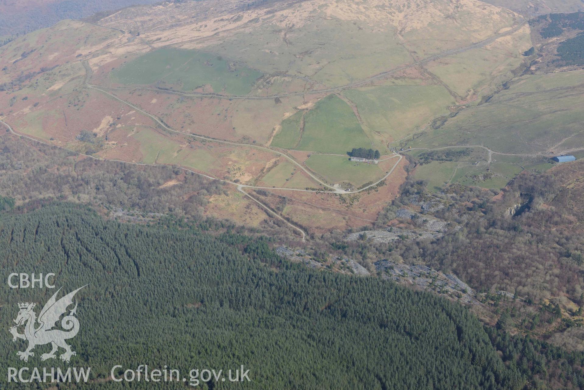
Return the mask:
<svg viewBox="0 0 584 390"><path fill-rule="evenodd" d="M0 196L19 201L50 197L178 217L201 215L208 197L224 191L222 183L192 172L79 158L8 134L0 137L0 187Z"/></svg>

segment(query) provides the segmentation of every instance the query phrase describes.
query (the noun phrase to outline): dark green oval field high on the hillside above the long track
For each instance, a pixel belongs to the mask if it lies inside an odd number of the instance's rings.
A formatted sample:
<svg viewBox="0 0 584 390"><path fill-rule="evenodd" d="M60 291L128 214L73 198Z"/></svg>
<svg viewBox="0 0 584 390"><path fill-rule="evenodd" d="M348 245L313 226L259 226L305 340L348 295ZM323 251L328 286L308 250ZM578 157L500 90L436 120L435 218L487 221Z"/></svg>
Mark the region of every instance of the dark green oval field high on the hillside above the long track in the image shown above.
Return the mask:
<svg viewBox="0 0 584 390"><path fill-rule="evenodd" d="M160 48L141 55L112 71L112 81L126 85L167 86L193 90L210 85L214 92L246 95L262 73L234 64L218 55L196 50Z"/></svg>

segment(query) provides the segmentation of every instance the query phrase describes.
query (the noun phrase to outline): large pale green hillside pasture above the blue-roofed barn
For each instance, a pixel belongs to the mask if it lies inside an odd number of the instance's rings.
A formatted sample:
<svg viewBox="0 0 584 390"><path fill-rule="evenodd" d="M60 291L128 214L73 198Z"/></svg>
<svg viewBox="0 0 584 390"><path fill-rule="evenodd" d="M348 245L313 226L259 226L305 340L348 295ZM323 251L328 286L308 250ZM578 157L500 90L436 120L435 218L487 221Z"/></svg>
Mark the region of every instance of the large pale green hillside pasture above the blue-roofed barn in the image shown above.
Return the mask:
<svg viewBox="0 0 584 390"><path fill-rule="evenodd" d="M485 145L519 154L584 145L583 77L584 71L522 76L488 103L461 111L408 145Z"/></svg>

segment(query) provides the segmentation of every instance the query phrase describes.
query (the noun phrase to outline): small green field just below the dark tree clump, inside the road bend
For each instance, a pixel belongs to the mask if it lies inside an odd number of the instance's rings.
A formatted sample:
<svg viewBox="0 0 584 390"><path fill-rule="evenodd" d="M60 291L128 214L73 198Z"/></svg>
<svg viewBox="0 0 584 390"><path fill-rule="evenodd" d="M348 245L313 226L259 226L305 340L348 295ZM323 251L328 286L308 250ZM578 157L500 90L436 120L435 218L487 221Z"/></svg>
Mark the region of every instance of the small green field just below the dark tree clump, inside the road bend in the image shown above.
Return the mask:
<svg viewBox="0 0 584 390"><path fill-rule="evenodd" d="M329 183L349 182L357 187L381 179L384 175L383 170L377 165L352 162L348 156L312 154L306 165Z"/></svg>

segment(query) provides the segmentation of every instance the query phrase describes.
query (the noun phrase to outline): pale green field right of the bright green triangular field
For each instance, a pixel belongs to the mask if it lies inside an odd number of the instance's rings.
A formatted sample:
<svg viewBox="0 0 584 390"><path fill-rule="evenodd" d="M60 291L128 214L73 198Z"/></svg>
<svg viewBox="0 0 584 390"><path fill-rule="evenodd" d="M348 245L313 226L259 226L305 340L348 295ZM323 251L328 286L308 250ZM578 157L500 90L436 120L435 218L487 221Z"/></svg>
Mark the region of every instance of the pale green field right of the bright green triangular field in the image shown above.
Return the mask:
<svg viewBox="0 0 584 390"><path fill-rule="evenodd" d="M349 89L344 94L357 105L363 122L390 140L447 114L447 107L454 104L442 85L374 86Z"/></svg>

